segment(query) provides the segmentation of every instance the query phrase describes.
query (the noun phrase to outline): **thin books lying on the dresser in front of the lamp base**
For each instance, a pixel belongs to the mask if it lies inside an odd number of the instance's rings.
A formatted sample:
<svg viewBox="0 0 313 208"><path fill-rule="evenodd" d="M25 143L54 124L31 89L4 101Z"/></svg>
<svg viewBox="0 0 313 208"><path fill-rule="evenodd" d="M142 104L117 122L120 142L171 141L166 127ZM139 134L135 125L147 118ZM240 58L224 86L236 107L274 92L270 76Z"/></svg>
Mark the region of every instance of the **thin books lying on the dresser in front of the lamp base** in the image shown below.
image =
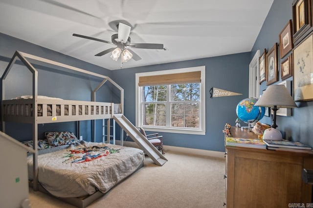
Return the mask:
<svg viewBox="0 0 313 208"><path fill-rule="evenodd" d="M312 150L312 147L301 142L292 142L288 140L263 140L268 150L298 149Z"/></svg>

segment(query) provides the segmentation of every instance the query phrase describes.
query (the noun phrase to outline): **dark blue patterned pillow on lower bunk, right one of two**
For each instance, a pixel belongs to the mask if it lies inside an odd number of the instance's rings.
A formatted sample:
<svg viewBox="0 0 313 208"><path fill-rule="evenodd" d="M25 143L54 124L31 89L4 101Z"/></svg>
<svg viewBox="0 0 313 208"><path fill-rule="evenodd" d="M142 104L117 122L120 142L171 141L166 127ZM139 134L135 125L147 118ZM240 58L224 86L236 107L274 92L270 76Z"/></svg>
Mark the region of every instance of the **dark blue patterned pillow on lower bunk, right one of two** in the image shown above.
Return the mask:
<svg viewBox="0 0 313 208"><path fill-rule="evenodd" d="M51 146L78 144L78 140L72 132L45 132L45 138Z"/></svg>

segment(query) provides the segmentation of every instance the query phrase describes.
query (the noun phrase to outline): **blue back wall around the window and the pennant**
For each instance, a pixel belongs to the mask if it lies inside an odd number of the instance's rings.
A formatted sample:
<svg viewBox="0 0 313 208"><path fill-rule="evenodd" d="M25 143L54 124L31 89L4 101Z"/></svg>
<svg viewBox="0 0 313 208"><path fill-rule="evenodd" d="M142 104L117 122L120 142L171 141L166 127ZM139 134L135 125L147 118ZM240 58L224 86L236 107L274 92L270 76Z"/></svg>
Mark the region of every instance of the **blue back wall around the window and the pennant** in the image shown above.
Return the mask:
<svg viewBox="0 0 313 208"><path fill-rule="evenodd" d="M165 145L224 151L225 123L235 123L238 102L248 96L248 65L250 53L221 57L120 69L112 72L112 79L124 88L124 114L135 123L135 73L205 66L206 133L205 135L162 132ZM127 80L127 82L125 81ZM216 87L241 93L239 96L210 98L209 90Z"/></svg>

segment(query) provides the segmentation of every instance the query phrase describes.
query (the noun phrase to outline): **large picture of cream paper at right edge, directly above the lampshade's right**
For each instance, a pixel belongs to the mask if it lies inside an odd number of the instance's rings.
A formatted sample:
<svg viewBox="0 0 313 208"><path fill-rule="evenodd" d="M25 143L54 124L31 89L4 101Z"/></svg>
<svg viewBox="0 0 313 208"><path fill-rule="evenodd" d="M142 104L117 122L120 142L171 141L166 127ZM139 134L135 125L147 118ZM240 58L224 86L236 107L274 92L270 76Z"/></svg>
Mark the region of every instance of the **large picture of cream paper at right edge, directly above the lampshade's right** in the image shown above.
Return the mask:
<svg viewBox="0 0 313 208"><path fill-rule="evenodd" d="M313 34L293 49L294 101L313 100Z"/></svg>

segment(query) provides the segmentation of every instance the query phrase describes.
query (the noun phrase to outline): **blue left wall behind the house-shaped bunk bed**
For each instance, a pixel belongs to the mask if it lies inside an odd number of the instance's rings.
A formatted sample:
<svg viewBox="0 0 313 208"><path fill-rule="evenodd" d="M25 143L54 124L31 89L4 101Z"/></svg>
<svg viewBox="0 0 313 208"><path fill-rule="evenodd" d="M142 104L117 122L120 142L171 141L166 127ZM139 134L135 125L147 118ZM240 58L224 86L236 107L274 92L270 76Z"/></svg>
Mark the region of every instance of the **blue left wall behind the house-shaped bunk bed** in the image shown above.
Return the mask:
<svg viewBox="0 0 313 208"><path fill-rule="evenodd" d="M65 56L64 54L57 53L52 50L34 45L32 43L23 41L21 39L13 38L0 33L0 75L2 76L5 68L8 65L11 57L16 50L32 54L39 57L45 57L51 60L59 61L71 66L75 66L81 69L86 69L105 76L111 76L112 71L104 69L102 67L84 62L82 60ZM31 95L32 93L32 79L31 73L28 69L20 63L20 61L14 64L8 77L6 78L6 89L10 89L6 93L6 98L10 99L20 95ZM33 62L32 62L33 63ZM55 69L51 66L44 65L43 63L36 62L34 67L38 70L38 95L46 95L52 97L60 97L63 99L74 100L91 100L91 89L99 84L99 81L94 77L86 77L70 74L69 71L62 71L61 69ZM101 79L100 82L102 81ZM97 92L97 101L111 102L112 86L105 85L99 92ZM73 90L75 89L75 90ZM97 135L102 135L102 121L97 121L97 127L101 132L97 132ZM91 137L91 122L81 121L81 135L84 140L90 141ZM39 125L39 138L43 138L45 131L71 131L76 132L76 122L66 123L54 123ZM17 138L20 141L30 140L32 137L32 128L28 124L13 124L7 122L6 133ZM102 138L100 137L100 140Z"/></svg>

